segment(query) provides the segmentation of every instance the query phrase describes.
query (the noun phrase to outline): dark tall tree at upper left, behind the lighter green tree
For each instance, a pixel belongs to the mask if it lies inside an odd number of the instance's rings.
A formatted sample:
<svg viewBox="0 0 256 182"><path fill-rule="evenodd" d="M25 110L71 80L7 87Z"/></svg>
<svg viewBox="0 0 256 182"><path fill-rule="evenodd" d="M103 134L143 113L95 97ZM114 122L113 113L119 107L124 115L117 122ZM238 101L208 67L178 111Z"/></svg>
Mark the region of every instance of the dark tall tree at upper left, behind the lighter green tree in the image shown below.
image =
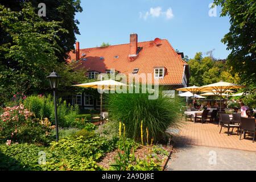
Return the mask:
<svg viewBox="0 0 256 182"><path fill-rule="evenodd" d="M76 42L76 34L80 34L77 24L79 20L75 19L75 14L82 11L80 6L80 0L9 0L1 1L1 5L6 8L10 8L11 11L21 11L23 9L24 3L30 2L30 5L34 7L34 12L38 14L41 7L38 7L39 3L44 3L46 5L46 16L41 16L45 22L59 22L59 26L64 28L65 32L58 31L54 37L57 45L61 47L58 51L55 51L55 55L58 61L63 62L68 58L68 52L75 49L74 44ZM47 28L40 27L42 32L47 31ZM5 42L11 41L11 38L5 30L0 28L0 42L5 40Z"/></svg>

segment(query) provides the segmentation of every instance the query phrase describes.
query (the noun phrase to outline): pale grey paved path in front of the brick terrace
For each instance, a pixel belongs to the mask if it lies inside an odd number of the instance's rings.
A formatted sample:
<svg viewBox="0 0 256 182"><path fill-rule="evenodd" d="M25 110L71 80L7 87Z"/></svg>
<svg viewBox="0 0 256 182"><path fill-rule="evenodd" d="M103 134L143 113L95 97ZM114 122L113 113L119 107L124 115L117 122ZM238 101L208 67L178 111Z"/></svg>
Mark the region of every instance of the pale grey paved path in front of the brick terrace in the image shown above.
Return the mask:
<svg viewBox="0 0 256 182"><path fill-rule="evenodd" d="M177 144L167 171L256 171L256 152Z"/></svg>

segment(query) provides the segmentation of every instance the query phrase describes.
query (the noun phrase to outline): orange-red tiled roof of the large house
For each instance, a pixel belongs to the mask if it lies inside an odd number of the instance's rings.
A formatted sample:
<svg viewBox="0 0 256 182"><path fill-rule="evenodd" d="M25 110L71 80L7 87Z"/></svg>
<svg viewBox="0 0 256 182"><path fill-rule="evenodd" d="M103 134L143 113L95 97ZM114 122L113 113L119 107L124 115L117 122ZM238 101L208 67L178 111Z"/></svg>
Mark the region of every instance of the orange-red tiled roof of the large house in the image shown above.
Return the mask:
<svg viewBox="0 0 256 182"><path fill-rule="evenodd" d="M106 70L115 69L129 75L133 69L139 68L138 74L152 73L154 80L154 68L165 67L164 78L159 79L160 85L181 84L184 72L184 65L187 63L181 59L168 40L163 39L159 46L154 41L138 42L141 47L135 60L130 60L130 44L119 44L108 47L95 47L80 49L80 57L86 58L82 66L89 71L106 73ZM84 56L82 54L85 53ZM70 52L71 60L76 59L76 54ZM114 58L118 56L118 58ZM100 57L104 57L100 59ZM153 81L154 82L154 81Z"/></svg>

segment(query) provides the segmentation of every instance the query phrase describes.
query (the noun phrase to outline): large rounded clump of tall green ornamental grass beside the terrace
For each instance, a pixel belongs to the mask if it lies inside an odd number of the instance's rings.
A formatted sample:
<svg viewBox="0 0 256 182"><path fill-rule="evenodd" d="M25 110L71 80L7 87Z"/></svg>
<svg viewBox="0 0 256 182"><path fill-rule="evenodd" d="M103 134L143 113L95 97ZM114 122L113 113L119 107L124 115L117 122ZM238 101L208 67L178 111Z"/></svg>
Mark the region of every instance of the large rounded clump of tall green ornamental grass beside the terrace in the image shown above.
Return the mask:
<svg viewBox="0 0 256 182"><path fill-rule="evenodd" d="M115 122L125 123L127 137L141 141L141 121L143 140L148 137L160 140L168 126L176 125L181 117L179 98L170 98L159 90L159 97L148 100L149 93L108 94L106 107Z"/></svg>

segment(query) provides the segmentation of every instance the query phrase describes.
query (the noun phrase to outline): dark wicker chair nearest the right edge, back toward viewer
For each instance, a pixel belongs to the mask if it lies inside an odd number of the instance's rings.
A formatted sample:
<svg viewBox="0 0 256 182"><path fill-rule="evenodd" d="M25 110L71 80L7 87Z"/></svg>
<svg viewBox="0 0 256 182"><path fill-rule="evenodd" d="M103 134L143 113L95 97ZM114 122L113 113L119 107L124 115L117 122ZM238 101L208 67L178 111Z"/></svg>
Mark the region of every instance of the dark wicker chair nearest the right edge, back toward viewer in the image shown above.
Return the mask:
<svg viewBox="0 0 256 182"><path fill-rule="evenodd" d="M240 140L243 133L243 138L245 138L245 134L253 133L253 142L255 138L255 118L243 118L241 117L241 134Z"/></svg>

